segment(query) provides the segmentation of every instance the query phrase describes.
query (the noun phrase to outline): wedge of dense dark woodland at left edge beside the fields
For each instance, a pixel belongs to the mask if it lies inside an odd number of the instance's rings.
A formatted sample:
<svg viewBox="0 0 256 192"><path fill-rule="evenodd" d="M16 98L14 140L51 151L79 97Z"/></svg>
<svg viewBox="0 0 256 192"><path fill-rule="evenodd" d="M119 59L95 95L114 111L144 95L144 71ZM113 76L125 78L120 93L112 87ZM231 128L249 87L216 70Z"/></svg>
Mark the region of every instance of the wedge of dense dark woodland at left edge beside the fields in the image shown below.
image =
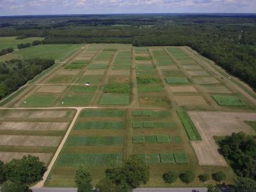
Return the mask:
<svg viewBox="0 0 256 192"><path fill-rule="evenodd" d="M0 63L0 99L54 65L54 60L12 60Z"/></svg>

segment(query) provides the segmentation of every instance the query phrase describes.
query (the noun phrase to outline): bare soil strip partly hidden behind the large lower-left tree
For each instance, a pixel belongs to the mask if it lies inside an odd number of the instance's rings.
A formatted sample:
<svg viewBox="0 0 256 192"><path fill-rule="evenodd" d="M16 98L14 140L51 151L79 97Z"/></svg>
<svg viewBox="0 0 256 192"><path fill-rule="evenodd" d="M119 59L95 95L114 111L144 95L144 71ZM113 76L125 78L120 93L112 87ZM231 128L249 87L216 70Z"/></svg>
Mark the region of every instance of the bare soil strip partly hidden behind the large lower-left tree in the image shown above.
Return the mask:
<svg viewBox="0 0 256 192"><path fill-rule="evenodd" d="M23 156L28 155L39 157L40 161L43 161L46 164L51 160L52 157L52 154L45 153L0 152L0 160L7 163L12 159L21 159Z"/></svg>

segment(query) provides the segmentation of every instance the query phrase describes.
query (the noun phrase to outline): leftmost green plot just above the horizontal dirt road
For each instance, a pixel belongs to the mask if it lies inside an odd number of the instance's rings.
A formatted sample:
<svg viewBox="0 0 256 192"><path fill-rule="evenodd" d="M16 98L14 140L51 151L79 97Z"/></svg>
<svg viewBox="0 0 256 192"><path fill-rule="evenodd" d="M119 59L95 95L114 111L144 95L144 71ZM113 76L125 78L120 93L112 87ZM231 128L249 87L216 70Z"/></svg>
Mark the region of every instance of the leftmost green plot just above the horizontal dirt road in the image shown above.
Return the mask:
<svg viewBox="0 0 256 192"><path fill-rule="evenodd" d="M21 106L24 107L50 107L57 95L31 95L28 99L24 100Z"/></svg>

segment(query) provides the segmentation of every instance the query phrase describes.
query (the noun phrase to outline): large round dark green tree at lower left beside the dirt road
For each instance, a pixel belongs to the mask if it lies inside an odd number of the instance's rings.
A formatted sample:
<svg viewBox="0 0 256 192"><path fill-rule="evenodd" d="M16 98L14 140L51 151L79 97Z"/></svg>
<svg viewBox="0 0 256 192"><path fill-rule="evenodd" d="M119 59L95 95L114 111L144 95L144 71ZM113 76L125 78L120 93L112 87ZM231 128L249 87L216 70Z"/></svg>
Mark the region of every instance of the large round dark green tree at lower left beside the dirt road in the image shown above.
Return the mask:
<svg viewBox="0 0 256 192"><path fill-rule="evenodd" d="M3 173L7 180L31 184L42 180L46 170L45 164L35 156L23 156L21 159L12 159L4 164Z"/></svg>

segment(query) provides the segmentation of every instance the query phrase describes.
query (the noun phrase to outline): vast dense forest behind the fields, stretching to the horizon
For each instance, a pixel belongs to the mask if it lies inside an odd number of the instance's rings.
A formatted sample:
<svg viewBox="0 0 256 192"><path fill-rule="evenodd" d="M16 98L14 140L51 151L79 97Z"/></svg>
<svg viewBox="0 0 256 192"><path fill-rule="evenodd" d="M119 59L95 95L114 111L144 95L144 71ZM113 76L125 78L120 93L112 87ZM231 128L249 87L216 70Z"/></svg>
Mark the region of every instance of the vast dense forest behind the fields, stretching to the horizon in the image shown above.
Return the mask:
<svg viewBox="0 0 256 192"><path fill-rule="evenodd" d="M256 88L253 14L0 17L0 36L42 36L44 44L188 45Z"/></svg>

